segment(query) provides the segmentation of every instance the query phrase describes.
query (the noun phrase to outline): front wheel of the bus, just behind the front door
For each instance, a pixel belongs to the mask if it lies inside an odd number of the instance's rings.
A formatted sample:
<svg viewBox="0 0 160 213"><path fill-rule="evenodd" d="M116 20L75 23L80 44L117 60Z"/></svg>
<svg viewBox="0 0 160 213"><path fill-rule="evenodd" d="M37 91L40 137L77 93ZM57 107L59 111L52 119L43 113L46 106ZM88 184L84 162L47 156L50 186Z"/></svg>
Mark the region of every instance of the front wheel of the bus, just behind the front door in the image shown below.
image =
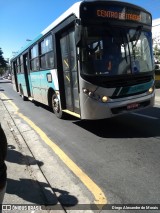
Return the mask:
<svg viewBox="0 0 160 213"><path fill-rule="evenodd" d="M62 112L59 99L55 93L52 95L52 109L58 118L63 118L64 113Z"/></svg>

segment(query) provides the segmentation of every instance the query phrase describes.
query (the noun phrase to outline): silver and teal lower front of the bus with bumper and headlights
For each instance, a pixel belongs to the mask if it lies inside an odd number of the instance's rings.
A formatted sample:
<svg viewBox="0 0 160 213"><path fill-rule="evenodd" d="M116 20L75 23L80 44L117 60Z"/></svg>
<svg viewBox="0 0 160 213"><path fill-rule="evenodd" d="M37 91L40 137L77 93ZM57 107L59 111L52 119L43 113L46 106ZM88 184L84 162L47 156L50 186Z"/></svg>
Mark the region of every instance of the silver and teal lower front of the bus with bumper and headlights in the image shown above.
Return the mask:
<svg viewBox="0 0 160 213"><path fill-rule="evenodd" d="M154 105L155 93L149 94L148 90L154 87L154 81L150 81L144 84L129 86L129 89L125 87L118 88L119 91L126 90L128 97L120 97L120 92L117 93L116 99L111 97L117 88L103 88L92 85L87 81L81 79L80 84L80 108L82 119L104 119L116 116L118 114L127 113L131 110L138 110L145 107L151 107ZM84 93L84 89L88 90L88 93ZM134 95L134 93L140 92L141 94ZM143 92L144 91L144 92ZM91 92L91 94L89 93ZM102 102L102 97L107 96L108 101Z"/></svg>

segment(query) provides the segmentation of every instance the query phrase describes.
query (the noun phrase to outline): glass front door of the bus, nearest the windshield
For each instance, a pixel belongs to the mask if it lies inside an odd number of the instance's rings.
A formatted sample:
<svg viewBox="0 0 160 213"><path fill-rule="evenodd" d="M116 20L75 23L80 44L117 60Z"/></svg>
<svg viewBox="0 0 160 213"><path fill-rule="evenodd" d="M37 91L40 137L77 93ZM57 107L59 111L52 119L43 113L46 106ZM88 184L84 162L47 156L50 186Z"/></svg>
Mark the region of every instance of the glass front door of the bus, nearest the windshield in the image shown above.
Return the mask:
<svg viewBox="0 0 160 213"><path fill-rule="evenodd" d="M79 113L78 73L74 31L60 39L66 108Z"/></svg>

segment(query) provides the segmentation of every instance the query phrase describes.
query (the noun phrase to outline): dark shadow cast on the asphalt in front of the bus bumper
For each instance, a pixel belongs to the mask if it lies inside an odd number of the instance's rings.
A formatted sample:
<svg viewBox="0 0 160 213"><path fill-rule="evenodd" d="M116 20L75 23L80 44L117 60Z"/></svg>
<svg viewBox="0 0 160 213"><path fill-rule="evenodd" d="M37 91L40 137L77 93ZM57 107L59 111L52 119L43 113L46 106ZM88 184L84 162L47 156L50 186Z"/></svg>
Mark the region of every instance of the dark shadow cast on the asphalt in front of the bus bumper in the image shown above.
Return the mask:
<svg viewBox="0 0 160 213"><path fill-rule="evenodd" d="M156 117L151 117L152 111ZM103 120L76 121L74 124L102 138L160 137L160 108L154 107L150 113L143 110Z"/></svg>

